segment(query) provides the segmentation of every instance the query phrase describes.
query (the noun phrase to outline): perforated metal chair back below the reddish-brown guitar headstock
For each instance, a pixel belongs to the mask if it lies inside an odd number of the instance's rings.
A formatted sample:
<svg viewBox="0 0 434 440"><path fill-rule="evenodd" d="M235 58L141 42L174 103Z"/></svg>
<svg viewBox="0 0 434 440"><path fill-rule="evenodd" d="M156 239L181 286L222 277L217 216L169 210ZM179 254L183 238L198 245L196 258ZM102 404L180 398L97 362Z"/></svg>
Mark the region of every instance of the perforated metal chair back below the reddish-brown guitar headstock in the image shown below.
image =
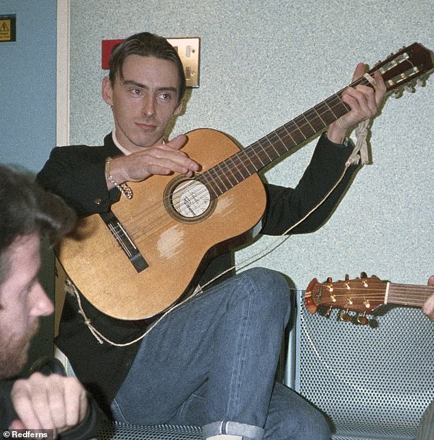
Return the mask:
<svg viewBox="0 0 434 440"><path fill-rule="evenodd" d="M368 325L311 314L298 292L296 391L329 417L333 439L413 439L434 398L434 324L383 307ZM351 313L350 313L351 315Z"/></svg>

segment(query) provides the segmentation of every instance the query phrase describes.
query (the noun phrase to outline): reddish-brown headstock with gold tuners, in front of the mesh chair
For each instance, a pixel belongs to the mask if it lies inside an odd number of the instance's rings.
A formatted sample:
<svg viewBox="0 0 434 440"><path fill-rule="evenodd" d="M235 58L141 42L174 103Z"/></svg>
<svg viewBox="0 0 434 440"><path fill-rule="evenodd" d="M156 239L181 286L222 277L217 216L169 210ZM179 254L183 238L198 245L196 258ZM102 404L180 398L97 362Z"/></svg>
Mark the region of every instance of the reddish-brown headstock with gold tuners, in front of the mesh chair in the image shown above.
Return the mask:
<svg viewBox="0 0 434 440"><path fill-rule="evenodd" d="M334 308L345 313L355 311L364 317L384 304L386 289L387 283L364 273L359 279L350 280L347 275L344 281L329 278L325 283L314 278L306 289L305 305L310 313L315 313L318 307L329 307L329 311Z"/></svg>

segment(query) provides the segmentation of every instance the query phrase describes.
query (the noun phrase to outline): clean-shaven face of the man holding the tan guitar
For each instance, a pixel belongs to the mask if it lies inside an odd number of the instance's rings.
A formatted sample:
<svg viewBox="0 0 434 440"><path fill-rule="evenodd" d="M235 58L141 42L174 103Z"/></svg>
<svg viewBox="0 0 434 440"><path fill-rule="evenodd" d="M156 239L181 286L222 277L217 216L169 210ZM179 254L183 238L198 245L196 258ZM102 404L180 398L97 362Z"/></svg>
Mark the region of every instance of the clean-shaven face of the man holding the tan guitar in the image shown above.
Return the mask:
<svg viewBox="0 0 434 440"><path fill-rule="evenodd" d="M155 57L129 55L123 64L123 78L114 84L105 77L102 94L113 107L116 138L127 150L162 142L173 115L179 114L179 77L175 64Z"/></svg>

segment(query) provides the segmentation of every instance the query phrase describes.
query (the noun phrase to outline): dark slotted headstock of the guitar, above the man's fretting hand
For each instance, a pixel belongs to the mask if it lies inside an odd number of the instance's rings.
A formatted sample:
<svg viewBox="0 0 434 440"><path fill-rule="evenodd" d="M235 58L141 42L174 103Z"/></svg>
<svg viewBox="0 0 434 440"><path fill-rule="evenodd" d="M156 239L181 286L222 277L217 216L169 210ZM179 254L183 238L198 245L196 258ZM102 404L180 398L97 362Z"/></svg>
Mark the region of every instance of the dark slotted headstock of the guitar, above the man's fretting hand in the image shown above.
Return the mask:
<svg viewBox="0 0 434 440"><path fill-rule="evenodd" d="M433 52L419 43L404 47L397 53L390 55L387 60L379 62L368 73L372 75L377 70L384 79L387 92L402 88L412 89L416 82L424 85L424 79L434 68Z"/></svg>

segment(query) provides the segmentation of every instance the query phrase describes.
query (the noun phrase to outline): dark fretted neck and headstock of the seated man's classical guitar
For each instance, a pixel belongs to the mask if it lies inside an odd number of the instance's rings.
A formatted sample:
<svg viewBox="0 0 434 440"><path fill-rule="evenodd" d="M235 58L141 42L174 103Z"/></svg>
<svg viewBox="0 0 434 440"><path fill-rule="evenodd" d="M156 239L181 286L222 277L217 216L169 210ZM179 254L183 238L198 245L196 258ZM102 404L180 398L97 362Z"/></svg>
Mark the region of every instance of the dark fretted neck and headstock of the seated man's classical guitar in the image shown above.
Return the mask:
<svg viewBox="0 0 434 440"><path fill-rule="evenodd" d="M431 51L421 44L413 43L377 64L369 74L379 72L388 93L432 69ZM351 83L350 87L358 85L373 87L364 76ZM217 198L348 113L350 108L342 101L344 90L336 92L195 179L207 186L212 198Z"/></svg>

